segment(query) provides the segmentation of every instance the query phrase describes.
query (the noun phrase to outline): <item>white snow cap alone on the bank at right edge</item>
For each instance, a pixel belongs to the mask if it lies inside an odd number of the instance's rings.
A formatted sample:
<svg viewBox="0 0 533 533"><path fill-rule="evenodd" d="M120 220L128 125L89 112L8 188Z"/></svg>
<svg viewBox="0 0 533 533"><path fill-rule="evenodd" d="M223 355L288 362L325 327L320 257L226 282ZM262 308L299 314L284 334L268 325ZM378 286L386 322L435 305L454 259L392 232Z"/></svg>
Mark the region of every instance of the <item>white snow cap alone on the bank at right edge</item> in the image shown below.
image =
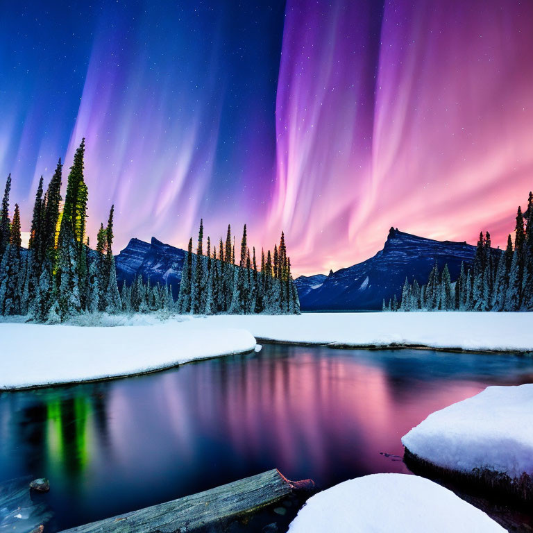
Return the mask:
<svg viewBox="0 0 533 533"><path fill-rule="evenodd" d="M487 387L430 414L402 443L421 459L454 471L533 475L533 384Z"/></svg>

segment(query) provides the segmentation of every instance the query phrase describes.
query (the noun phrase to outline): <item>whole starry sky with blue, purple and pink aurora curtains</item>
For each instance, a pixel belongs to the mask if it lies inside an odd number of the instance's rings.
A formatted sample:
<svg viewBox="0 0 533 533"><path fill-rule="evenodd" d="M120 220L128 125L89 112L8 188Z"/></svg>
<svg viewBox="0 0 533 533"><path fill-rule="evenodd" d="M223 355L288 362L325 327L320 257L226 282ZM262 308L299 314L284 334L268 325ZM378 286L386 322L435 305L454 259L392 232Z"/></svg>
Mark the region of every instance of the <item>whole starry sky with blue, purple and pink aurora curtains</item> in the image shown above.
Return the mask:
<svg viewBox="0 0 533 533"><path fill-rule="evenodd" d="M0 183L86 137L89 235L184 247L285 230L293 270L364 260L390 226L505 244L533 188L533 3L1 1ZM66 181L66 171L64 180Z"/></svg>

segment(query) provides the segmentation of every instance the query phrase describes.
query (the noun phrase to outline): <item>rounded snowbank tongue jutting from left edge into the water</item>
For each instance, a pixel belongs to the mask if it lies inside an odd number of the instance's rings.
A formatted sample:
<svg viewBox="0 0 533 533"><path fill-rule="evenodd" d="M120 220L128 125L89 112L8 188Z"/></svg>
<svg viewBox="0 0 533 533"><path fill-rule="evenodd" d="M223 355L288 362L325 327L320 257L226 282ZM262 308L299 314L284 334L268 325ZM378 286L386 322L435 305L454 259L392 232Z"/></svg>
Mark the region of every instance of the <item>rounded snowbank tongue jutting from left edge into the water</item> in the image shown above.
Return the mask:
<svg viewBox="0 0 533 533"><path fill-rule="evenodd" d="M115 328L0 323L0 389L116 378L254 348L245 330L191 320Z"/></svg>

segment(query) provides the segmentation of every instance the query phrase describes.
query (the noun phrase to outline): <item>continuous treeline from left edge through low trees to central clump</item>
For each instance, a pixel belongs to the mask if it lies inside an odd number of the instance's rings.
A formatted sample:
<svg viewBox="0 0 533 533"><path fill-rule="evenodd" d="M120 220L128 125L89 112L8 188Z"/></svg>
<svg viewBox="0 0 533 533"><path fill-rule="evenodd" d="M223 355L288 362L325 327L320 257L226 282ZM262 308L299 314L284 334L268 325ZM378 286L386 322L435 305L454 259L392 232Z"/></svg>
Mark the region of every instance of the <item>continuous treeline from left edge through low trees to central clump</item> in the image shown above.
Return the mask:
<svg viewBox="0 0 533 533"><path fill-rule="evenodd" d="M246 226L240 262L235 264L230 226L226 245L220 241L219 254L208 237L203 255L203 223L196 254L192 239L183 266L178 300L172 288L151 285L138 276L130 287L117 287L115 257L112 253L113 214L107 226L100 226L96 250L85 235L88 191L83 176L85 139L74 155L67 179L65 201L60 194L62 163L59 160L46 191L41 176L28 249L22 248L20 212L15 205L9 217L11 175L6 181L0 210L0 314L24 315L29 320L58 323L78 314L108 312L168 312L217 314L300 312L298 293L291 276L285 237L270 251L257 269L255 248L250 256Z"/></svg>

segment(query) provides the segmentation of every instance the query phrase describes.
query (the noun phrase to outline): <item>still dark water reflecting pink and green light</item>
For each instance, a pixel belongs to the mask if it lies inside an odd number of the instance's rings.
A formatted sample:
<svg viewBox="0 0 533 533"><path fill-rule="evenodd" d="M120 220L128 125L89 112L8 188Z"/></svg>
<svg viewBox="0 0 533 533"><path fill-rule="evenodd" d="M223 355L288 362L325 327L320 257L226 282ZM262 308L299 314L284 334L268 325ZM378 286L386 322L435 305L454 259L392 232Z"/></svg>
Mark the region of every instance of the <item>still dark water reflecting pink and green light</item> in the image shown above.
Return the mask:
<svg viewBox="0 0 533 533"><path fill-rule="evenodd" d="M400 438L533 359L265 345L110 382L0 395L0 482L46 476L53 529L279 468L327 488L406 473ZM391 454L387 457L383 454Z"/></svg>

